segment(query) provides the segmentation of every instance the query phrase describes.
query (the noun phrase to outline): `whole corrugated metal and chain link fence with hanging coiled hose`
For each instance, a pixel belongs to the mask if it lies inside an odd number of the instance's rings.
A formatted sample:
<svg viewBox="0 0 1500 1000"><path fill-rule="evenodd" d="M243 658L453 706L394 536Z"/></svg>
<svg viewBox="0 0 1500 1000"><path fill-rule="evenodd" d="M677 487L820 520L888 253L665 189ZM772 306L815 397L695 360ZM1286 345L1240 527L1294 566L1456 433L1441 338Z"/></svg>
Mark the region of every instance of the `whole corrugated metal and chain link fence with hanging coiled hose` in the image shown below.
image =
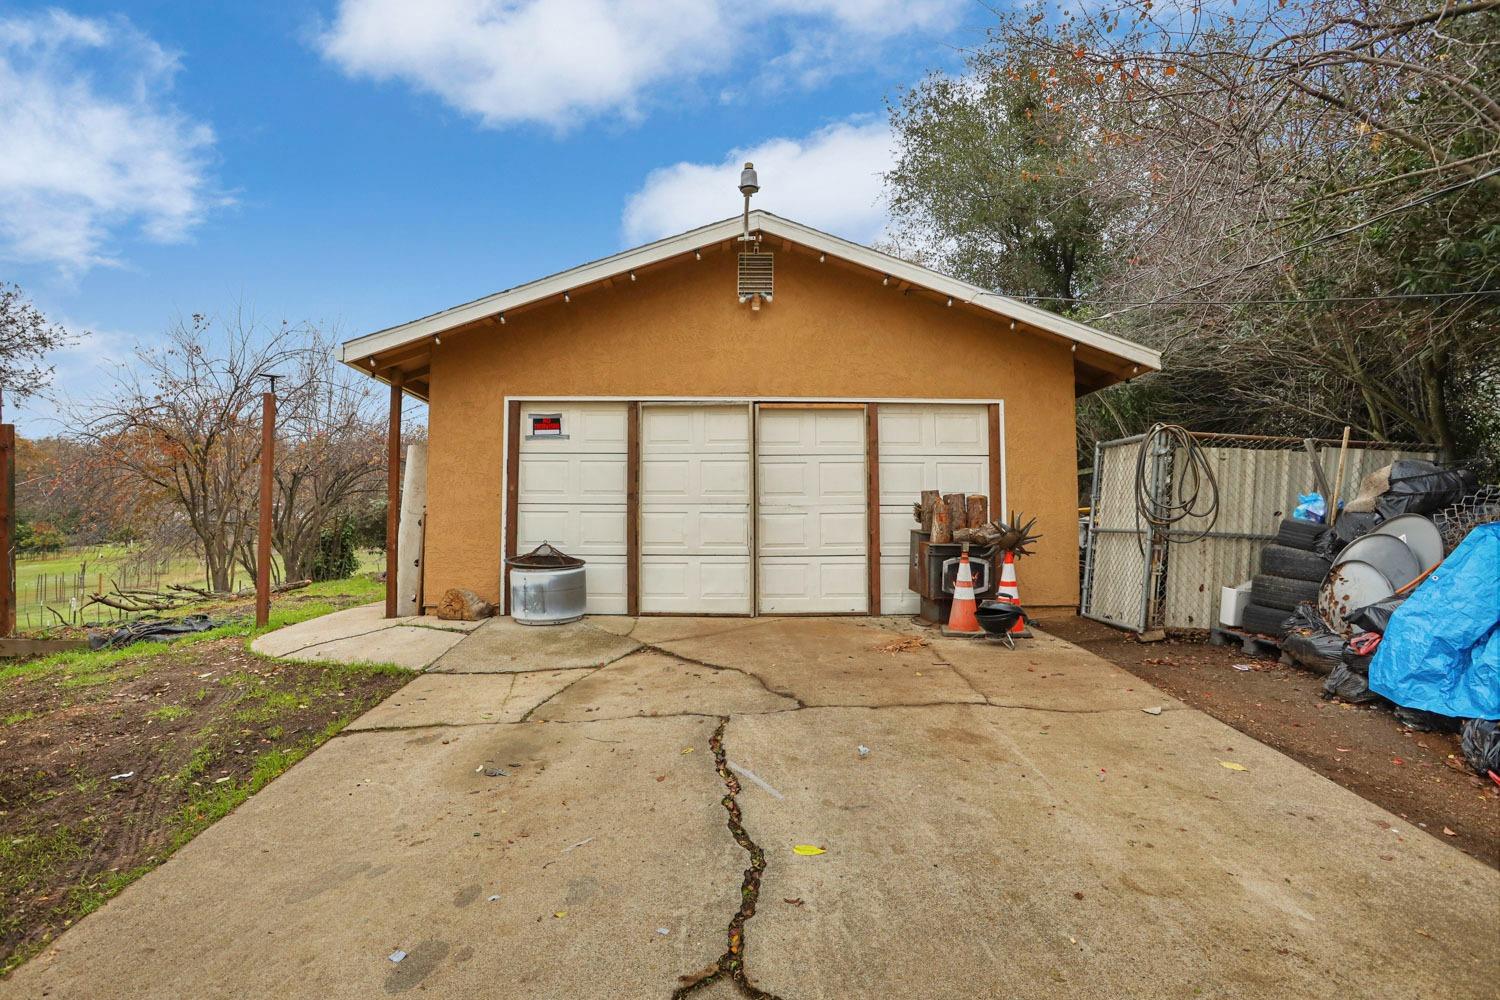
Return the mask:
<svg viewBox="0 0 1500 1000"><path fill-rule="evenodd" d="M1084 535L1080 610L1137 633L1160 628L1210 628L1220 592L1258 571L1260 549L1290 517L1299 493L1320 490L1318 471L1332 489L1340 442L1191 433L1218 483L1218 517L1188 516L1152 535L1137 502L1185 502L1186 453L1146 435L1102 441L1094 450L1094 483ZM1142 456L1149 447L1150 454ZM1314 462L1316 456L1316 462ZM1346 501L1359 483L1396 459L1431 459L1432 445L1350 441L1344 456ZM1322 492L1322 490L1320 490ZM1332 498L1324 495L1332 504Z"/></svg>

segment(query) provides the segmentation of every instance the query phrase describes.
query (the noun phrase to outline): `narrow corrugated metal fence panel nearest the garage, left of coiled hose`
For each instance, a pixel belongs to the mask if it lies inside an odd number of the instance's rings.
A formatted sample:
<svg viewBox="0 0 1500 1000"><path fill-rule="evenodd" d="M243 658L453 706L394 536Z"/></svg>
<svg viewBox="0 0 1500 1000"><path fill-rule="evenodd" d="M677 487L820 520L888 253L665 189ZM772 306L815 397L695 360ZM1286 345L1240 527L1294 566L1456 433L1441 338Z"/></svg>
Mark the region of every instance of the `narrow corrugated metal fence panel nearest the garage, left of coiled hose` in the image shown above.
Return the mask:
<svg viewBox="0 0 1500 1000"><path fill-rule="evenodd" d="M1146 546L1136 523L1138 441L1112 442L1094 471L1098 502L1092 513L1092 564L1084 615L1125 628L1143 628Z"/></svg>

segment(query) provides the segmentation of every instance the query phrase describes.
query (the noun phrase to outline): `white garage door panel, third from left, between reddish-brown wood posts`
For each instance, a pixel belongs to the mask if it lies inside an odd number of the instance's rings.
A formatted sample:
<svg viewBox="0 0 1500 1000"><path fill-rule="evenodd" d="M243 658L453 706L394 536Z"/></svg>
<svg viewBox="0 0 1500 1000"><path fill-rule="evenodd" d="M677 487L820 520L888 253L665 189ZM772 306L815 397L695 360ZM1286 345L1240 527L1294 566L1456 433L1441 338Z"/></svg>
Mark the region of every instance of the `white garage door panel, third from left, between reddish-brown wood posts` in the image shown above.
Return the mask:
<svg viewBox="0 0 1500 1000"><path fill-rule="evenodd" d="M756 454L760 613L866 612L864 408L762 406Z"/></svg>

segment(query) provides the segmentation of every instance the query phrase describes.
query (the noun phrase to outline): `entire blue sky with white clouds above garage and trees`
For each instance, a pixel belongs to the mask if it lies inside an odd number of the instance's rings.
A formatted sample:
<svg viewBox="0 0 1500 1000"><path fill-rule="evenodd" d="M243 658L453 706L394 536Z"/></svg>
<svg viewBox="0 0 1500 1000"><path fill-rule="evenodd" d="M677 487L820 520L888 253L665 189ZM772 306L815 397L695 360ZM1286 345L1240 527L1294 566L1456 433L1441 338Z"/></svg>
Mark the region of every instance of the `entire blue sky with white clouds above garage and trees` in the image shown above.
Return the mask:
<svg viewBox="0 0 1500 1000"><path fill-rule="evenodd" d="M746 10L758 10L746 19ZM322 0L0 7L0 279L94 334L390 325L756 205L884 225L884 99L975 0ZM15 150L18 154L10 156ZM52 405L16 417L46 433Z"/></svg>

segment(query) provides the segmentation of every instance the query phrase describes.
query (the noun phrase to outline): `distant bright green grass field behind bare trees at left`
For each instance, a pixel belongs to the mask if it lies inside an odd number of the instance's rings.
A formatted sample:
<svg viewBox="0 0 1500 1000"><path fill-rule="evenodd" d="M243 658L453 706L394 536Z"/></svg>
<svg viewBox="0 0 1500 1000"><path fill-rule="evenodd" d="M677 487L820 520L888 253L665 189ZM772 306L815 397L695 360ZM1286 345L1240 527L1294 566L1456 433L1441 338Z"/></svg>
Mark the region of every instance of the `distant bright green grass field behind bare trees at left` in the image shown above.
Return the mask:
<svg viewBox="0 0 1500 1000"><path fill-rule="evenodd" d="M382 553L360 552L357 573L378 571L382 565ZM100 586L105 592L114 586L146 589L159 589L170 583L206 586L202 559L198 556L176 553L159 558L142 547L122 544L78 546L52 555L18 556L15 577L20 628L56 625L57 615L72 621L74 601L81 606ZM238 571L232 586L238 589L254 583L252 577ZM120 616L120 612L93 604L80 613L80 621L111 621Z"/></svg>

